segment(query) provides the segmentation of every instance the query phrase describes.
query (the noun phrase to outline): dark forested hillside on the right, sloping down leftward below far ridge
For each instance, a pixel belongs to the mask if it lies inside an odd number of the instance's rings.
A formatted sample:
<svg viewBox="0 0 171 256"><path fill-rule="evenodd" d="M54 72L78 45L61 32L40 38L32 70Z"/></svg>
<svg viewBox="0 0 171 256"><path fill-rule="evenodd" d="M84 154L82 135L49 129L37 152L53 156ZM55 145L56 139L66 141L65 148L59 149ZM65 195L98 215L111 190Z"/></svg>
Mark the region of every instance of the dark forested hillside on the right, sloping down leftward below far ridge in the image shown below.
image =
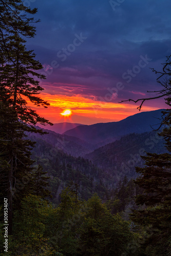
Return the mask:
<svg viewBox="0 0 171 256"><path fill-rule="evenodd" d="M94 150L85 157L105 170L113 181L122 180L124 175L129 179L135 177L136 166L143 166L141 156L150 153L168 152L158 132L129 134L120 140Z"/></svg>

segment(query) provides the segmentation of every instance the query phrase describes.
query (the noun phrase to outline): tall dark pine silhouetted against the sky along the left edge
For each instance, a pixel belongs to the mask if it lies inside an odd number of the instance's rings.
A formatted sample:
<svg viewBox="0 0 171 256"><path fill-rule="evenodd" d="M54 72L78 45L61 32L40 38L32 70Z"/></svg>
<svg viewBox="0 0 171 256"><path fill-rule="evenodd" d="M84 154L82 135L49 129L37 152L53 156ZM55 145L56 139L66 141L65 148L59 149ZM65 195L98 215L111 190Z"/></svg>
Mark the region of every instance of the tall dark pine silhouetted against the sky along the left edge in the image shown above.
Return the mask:
<svg viewBox="0 0 171 256"><path fill-rule="evenodd" d="M34 18L27 14L36 13L23 5L23 1L0 1L0 92L1 92L1 169L4 191L9 199L9 233L12 233L12 201L16 196L16 180L30 175L32 160L30 150L33 142L25 139L25 132L38 132L34 125L50 123L36 111L28 108L27 100L36 106L47 108L49 103L37 95L43 90L37 73L43 67L34 59L33 51L25 47L22 36L33 37Z"/></svg>

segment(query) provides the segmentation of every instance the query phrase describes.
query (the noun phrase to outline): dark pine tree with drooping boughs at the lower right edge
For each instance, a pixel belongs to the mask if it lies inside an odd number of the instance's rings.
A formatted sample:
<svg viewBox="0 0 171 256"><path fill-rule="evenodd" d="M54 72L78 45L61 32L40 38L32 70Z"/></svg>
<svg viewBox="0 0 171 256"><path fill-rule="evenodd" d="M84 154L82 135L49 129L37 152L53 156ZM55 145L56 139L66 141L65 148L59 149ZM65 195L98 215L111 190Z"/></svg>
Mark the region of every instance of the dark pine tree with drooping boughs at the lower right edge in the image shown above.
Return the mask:
<svg viewBox="0 0 171 256"><path fill-rule="evenodd" d="M171 249L171 156L148 153L143 159L146 166L137 167L141 176L136 184L144 188L144 193L136 197L136 203L145 207L133 210L131 218L145 226L149 233L144 245L153 246L155 255L168 255Z"/></svg>

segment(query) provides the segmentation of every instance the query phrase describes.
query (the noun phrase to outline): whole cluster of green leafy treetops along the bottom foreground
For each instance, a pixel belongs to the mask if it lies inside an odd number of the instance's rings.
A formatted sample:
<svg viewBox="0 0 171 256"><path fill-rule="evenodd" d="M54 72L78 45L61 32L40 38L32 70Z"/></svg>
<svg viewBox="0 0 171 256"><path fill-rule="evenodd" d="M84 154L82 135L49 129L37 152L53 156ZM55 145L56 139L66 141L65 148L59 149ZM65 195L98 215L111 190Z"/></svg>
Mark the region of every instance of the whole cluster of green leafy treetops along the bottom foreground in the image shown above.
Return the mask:
<svg viewBox="0 0 171 256"><path fill-rule="evenodd" d="M129 255L137 246L129 222L112 215L97 194L81 201L78 190L75 183L66 187L56 208L34 195L22 199L9 239L11 255Z"/></svg>

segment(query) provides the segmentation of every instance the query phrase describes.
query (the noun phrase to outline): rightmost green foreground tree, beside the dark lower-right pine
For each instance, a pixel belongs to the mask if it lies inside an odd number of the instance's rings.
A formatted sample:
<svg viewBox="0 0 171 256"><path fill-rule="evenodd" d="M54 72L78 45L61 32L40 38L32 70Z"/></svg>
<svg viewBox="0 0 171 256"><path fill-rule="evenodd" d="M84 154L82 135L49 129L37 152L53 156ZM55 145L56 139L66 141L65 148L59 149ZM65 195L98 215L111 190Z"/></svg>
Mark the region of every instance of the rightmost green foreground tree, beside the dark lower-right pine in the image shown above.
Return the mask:
<svg viewBox="0 0 171 256"><path fill-rule="evenodd" d="M132 240L128 223L112 216L101 199L94 195L87 201L81 225L81 255L121 255Z"/></svg>

